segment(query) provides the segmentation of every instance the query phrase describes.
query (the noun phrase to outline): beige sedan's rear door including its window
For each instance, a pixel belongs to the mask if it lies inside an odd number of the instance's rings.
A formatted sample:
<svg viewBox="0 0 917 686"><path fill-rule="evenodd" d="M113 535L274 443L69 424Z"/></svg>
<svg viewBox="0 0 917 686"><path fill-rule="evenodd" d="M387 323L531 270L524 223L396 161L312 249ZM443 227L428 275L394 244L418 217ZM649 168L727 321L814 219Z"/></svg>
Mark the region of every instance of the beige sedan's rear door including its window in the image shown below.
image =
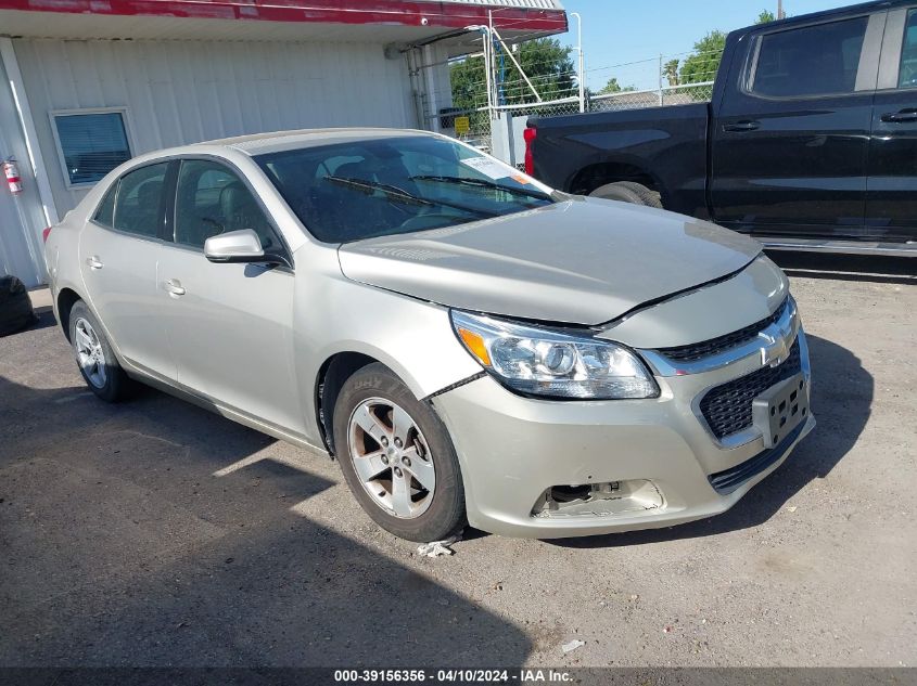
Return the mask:
<svg viewBox="0 0 917 686"><path fill-rule="evenodd" d="M166 379L175 365L156 296L168 163L124 174L80 232L79 263L95 313L130 364Z"/></svg>

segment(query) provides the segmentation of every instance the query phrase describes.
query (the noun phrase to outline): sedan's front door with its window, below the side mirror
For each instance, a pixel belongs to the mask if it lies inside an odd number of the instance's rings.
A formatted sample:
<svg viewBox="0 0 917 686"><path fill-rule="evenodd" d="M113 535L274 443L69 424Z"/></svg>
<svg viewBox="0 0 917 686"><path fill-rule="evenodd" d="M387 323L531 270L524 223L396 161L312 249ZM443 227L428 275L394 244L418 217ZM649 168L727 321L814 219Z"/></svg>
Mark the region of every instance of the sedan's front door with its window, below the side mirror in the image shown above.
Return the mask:
<svg viewBox="0 0 917 686"><path fill-rule="evenodd" d="M255 231L266 249L283 249L278 232L249 186L218 161L182 160L175 197L175 241L162 248L157 297L168 311L179 384L302 432L292 270L204 257L207 237L240 229Z"/></svg>

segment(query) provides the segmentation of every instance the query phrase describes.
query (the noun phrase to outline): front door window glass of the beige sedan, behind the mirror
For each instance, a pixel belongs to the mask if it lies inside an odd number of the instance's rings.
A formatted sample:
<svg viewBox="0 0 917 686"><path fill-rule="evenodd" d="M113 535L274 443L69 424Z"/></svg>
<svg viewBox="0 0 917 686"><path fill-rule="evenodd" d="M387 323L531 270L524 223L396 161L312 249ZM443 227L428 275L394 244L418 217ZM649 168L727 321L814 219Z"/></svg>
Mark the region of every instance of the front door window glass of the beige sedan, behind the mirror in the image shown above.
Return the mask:
<svg viewBox="0 0 917 686"><path fill-rule="evenodd" d="M211 236L242 229L258 234L265 250L279 247L260 205L234 171L208 159L183 160L175 198L175 242L203 248Z"/></svg>

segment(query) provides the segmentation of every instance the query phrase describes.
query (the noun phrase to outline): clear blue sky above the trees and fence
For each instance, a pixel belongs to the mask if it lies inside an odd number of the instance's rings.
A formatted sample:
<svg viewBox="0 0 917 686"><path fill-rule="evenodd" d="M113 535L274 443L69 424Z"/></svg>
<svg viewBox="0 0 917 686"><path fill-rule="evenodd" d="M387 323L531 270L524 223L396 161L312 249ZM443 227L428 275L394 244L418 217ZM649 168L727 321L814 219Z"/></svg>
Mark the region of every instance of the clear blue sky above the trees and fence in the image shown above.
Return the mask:
<svg viewBox="0 0 917 686"><path fill-rule="evenodd" d="M622 86L658 85L659 54L690 52L708 31L728 33L753 24L763 10L777 13L777 0L561 0L568 14L583 17L586 85L598 90L614 76ZM852 0L784 0L789 16L852 4ZM561 42L575 46L576 20ZM626 64L639 62L639 64ZM575 64L575 55L574 55ZM625 65L625 66L614 66Z"/></svg>

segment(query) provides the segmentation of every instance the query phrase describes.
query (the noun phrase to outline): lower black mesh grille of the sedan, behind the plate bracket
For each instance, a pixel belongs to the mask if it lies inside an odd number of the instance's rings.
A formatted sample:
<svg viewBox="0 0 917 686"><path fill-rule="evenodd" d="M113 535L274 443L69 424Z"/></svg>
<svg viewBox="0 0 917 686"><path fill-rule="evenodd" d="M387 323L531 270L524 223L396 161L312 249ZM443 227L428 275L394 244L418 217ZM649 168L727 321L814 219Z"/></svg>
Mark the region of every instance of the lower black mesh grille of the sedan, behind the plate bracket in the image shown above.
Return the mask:
<svg viewBox="0 0 917 686"><path fill-rule="evenodd" d="M700 401L700 411L716 438L724 438L752 425L751 401L765 390L802 370L799 338L789 357L775 367L766 366L711 388Z"/></svg>

